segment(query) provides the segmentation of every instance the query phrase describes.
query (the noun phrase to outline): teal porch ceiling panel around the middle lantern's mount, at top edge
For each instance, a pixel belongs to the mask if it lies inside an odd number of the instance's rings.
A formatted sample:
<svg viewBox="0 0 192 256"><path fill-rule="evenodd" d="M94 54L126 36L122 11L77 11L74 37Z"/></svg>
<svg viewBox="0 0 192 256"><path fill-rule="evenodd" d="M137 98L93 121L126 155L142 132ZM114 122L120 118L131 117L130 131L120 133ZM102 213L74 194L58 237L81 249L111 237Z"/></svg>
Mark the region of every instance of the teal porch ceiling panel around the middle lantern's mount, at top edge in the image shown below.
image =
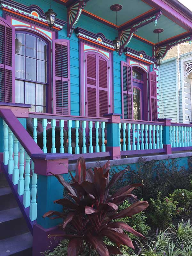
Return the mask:
<svg viewBox="0 0 192 256"><path fill-rule="evenodd" d="M87 2L85 10L116 24L116 13L110 10L112 4L123 6L122 10L117 12L118 26L152 9L141 0L94 0Z"/></svg>

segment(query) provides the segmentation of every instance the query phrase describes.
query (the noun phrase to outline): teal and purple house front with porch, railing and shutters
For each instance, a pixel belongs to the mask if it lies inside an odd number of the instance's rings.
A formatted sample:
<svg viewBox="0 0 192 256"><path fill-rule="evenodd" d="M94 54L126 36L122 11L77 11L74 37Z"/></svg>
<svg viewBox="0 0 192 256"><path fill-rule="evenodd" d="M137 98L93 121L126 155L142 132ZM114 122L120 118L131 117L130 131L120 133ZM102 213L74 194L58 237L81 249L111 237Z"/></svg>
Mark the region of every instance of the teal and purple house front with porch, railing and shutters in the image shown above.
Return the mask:
<svg viewBox="0 0 192 256"><path fill-rule="evenodd" d="M191 124L162 118L157 61L192 39L192 13L177 0L2 0L0 16L1 171L36 256L59 224L42 218L61 210L50 172L67 175L80 156L90 168L191 156Z"/></svg>

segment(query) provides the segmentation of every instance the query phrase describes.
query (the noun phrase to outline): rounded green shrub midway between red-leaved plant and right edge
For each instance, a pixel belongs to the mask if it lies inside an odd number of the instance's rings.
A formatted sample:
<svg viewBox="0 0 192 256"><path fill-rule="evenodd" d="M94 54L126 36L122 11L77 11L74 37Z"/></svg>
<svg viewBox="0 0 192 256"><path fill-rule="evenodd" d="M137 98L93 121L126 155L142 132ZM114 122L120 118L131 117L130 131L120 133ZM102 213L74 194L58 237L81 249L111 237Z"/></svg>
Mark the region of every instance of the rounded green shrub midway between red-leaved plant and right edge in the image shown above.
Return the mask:
<svg viewBox="0 0 192 256"><path fill-rule="evenodd" d="M162 192L158 191L157 199L150 199L149 216L155 227L164 228L177 215L183 212L183 208L177 207L178 202L169 197L162 198Z"/></svg>

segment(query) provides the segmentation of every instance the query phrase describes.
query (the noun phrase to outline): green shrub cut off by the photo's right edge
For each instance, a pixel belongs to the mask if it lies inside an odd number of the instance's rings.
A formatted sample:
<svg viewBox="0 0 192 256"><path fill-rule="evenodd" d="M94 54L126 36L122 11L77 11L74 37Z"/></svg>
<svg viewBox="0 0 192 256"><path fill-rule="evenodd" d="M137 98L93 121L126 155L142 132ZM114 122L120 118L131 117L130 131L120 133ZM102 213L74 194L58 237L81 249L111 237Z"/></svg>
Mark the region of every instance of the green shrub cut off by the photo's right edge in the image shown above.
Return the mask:
<svg viewBox="0 0 192 256"><path fill-rule="evenodd" d="M178 207L182 207L187 215L192 209L192 191L187 189L175 189L172 194L169 194L172 201L178 202Z"/></svg>

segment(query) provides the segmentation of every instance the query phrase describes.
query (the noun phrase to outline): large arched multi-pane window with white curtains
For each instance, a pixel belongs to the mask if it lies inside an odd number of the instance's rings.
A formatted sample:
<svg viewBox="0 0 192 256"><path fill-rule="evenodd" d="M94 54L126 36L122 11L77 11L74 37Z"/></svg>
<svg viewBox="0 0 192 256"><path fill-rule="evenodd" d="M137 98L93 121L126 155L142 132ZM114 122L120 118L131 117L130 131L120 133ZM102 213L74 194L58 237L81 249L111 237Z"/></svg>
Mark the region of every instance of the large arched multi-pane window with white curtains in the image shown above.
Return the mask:
<svg viewBox="0 0 192 256"><path fill-rule="evenodd" d="M48 44L29 33L15 34L15 102L46 112Z"/></svg>

